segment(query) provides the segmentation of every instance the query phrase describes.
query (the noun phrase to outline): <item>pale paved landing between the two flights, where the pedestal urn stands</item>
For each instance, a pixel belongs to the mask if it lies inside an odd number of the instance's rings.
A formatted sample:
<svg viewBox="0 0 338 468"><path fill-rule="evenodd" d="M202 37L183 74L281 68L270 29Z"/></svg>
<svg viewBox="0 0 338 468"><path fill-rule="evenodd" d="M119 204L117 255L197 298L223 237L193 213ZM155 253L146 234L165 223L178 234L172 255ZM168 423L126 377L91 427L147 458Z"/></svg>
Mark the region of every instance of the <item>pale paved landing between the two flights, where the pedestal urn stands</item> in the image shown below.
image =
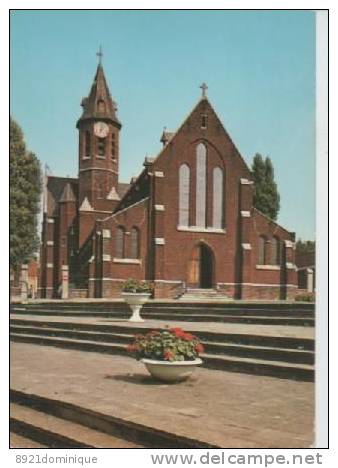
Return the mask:
<svg viewBox="0 0 338 468"><path fill-rule="evenodd" d="M278 336L288 338L315 338L314 327L300 327L292 325L257 325L241 323L219 323L219 322L181 322L179 320L146 320L144 322L130 322L126 319L114 319L103 317L76 317L74 315L56 316L51 312L47 315L34 314L11 314L11 319L36 320L39 322L60 322L60 323L85 323L92 325L118 325L135 328L164 328L181 327L186 331L199 332L207 331L214 333L230 333L244 335Z"/></svg>

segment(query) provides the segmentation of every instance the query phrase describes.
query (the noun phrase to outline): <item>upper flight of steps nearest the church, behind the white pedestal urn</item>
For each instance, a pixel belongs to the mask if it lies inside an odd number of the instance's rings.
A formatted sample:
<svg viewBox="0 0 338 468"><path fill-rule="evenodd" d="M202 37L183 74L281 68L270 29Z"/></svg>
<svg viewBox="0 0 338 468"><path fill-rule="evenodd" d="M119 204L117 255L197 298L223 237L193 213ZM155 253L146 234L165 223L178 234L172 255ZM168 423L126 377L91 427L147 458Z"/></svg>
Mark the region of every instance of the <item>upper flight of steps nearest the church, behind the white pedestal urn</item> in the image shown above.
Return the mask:
<svg viewBox="0 0 338 468"><path fill-rule="evenodd" d="M20 315L62 317L128 318L131 312L124 302L55 303L13 305L11 312ZM142 316L151 320L186 322L245 323L258 325L309 326L315 324L313 304L240 304L149 302Z"/></svg>

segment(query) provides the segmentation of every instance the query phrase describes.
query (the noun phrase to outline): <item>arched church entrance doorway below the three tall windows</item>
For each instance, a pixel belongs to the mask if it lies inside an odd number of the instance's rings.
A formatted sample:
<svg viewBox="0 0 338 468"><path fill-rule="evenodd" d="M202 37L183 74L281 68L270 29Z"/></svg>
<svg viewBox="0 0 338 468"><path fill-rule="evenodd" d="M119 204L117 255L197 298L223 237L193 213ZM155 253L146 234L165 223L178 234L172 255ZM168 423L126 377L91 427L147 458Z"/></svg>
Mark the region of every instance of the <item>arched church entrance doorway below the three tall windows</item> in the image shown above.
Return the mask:
<svg viewBox="0 0 338 468"><path fill-rule="evenodd" d="M188 265L188 286L211 289L214 283L214 255L204 243L197 244Z"/></svg>

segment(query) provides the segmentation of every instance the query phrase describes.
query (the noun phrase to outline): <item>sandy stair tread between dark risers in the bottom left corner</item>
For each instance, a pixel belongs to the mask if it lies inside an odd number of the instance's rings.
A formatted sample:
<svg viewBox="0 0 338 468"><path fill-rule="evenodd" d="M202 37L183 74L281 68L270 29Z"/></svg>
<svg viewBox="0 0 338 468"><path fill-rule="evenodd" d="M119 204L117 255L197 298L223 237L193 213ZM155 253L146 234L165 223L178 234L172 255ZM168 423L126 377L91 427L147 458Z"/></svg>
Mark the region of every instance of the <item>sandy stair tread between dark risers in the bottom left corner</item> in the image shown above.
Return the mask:
<svg viewBox="0 0 338 468"><path fill-rule="evenodd" d="M74 423L59 417L43 413L16 403L10 405L12 419L38 427L42 430L67 437L93 448L139 448L134 442L105 434L103 432Z"/></svg>

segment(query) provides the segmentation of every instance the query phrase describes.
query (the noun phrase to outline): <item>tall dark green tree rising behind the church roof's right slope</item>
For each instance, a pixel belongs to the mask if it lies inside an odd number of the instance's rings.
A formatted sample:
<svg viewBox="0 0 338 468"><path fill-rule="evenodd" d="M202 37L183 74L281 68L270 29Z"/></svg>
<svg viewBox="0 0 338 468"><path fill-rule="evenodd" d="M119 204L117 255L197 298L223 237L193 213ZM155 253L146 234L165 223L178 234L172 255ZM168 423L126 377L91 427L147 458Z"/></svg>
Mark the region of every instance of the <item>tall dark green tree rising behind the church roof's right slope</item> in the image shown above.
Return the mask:
<svg viewBox="0 0 338 468"><path fill-rule="evenodd" d="M255 183L253 204L275 221L280 209L280 197L271 159L267 157L264 160L257 153L252 164L252 175Z"/></svg>

